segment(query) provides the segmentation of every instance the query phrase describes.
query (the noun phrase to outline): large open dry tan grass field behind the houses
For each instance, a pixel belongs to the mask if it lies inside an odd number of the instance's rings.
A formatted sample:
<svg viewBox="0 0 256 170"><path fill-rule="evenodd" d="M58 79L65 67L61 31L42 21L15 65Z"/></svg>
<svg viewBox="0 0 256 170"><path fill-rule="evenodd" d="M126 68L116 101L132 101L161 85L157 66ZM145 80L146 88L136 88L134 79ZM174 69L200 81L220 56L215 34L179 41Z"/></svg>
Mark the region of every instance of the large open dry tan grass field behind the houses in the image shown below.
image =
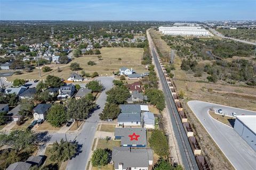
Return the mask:
<svg viewBox="0 0 256 170"><path fill-rule="evenodd" d="M12 75L7 77L8 81L13 81L14 79L37 79L44 80L47 75L55 75L57 77L67 79L72 71L69 69L71 63L79 63L80 67L88 73L98 72L100 75L111 75L112 72L119 71L122 66L133 68L137 72L145 72L145 66L141 65L141 57L143 54L143 48L126 48L126 47L116 47L116 48L101 48L101 56L103 60L98 59L98 55L83 55L81 57L75 58L68 64L50 64L52 71L43 73L42 77L39 78L38 69L34 69L31 73L23 72L21 75ZM122 60L118 60L121 58ZM90 66L87 64L89 61L94 61L96 65ZM58 72L58 67L61 72ZM4 71L1 71L4 72ZM6 71L5 71L6 72Z"/></svg>

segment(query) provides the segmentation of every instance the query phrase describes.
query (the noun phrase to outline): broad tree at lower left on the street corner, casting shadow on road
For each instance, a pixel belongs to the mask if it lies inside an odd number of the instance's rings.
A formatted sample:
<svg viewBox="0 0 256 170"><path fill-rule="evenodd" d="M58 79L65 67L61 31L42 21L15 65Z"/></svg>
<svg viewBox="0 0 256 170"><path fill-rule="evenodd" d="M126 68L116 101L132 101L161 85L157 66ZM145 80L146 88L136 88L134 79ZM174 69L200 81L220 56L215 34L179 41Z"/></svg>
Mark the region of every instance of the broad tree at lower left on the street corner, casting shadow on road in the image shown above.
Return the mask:
<svg viewBox="0 0 256 170"><path fill-rule="evenodd" d="M68 142L63 139L61 139L59 143L56 141L50 149L50 160L52 162L62 162L71 159L75 156L77 148L78 145L75 142Z"/></svg>

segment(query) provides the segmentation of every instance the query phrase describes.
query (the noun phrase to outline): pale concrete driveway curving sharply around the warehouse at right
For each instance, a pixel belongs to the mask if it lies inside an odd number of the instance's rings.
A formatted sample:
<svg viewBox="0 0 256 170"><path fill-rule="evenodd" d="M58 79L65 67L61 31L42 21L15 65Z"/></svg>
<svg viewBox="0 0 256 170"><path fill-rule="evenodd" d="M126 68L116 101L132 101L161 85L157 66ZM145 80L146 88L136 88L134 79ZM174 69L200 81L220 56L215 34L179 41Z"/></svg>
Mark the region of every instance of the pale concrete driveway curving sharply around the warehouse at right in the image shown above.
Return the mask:
<svg viewBox="0 0 256 170"><path fill-rule="evenodd" d="M233 128L214 120L207 112L211 107L220 107L229 112L234 110L237 113L244 114L256 114L256 112L203 101L189 101L188 106L237 170L255 169L256 152L233 130Z"/></svg>

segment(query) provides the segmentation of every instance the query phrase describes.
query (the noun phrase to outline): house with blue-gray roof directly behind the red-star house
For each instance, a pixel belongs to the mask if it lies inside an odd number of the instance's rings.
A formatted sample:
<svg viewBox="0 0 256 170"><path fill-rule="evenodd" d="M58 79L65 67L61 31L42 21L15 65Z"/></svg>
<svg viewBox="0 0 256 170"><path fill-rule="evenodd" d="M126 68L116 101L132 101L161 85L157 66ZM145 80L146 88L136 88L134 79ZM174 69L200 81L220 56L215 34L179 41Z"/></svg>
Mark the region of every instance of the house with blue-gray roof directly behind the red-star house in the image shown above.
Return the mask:
<svg viewBox="0 0 256 170"><path fill-rule="evenodd" d="M119 126L140 126L141 109L140 105L120 105L121 114L117 117Z"/></svg>

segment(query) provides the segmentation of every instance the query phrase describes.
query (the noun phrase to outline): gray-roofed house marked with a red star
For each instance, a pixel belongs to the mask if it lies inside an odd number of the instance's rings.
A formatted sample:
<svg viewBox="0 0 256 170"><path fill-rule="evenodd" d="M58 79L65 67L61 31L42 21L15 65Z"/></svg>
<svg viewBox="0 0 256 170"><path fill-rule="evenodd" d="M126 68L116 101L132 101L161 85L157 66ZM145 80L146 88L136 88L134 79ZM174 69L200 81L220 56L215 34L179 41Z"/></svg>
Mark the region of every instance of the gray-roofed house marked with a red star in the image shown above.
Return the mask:
<svg viewBox="0 0 256 170"><path fill-rule="evenodd" d="M121 140L122 147L147 146L147 135L145 128L115 128L115 140Z"/></svg>

